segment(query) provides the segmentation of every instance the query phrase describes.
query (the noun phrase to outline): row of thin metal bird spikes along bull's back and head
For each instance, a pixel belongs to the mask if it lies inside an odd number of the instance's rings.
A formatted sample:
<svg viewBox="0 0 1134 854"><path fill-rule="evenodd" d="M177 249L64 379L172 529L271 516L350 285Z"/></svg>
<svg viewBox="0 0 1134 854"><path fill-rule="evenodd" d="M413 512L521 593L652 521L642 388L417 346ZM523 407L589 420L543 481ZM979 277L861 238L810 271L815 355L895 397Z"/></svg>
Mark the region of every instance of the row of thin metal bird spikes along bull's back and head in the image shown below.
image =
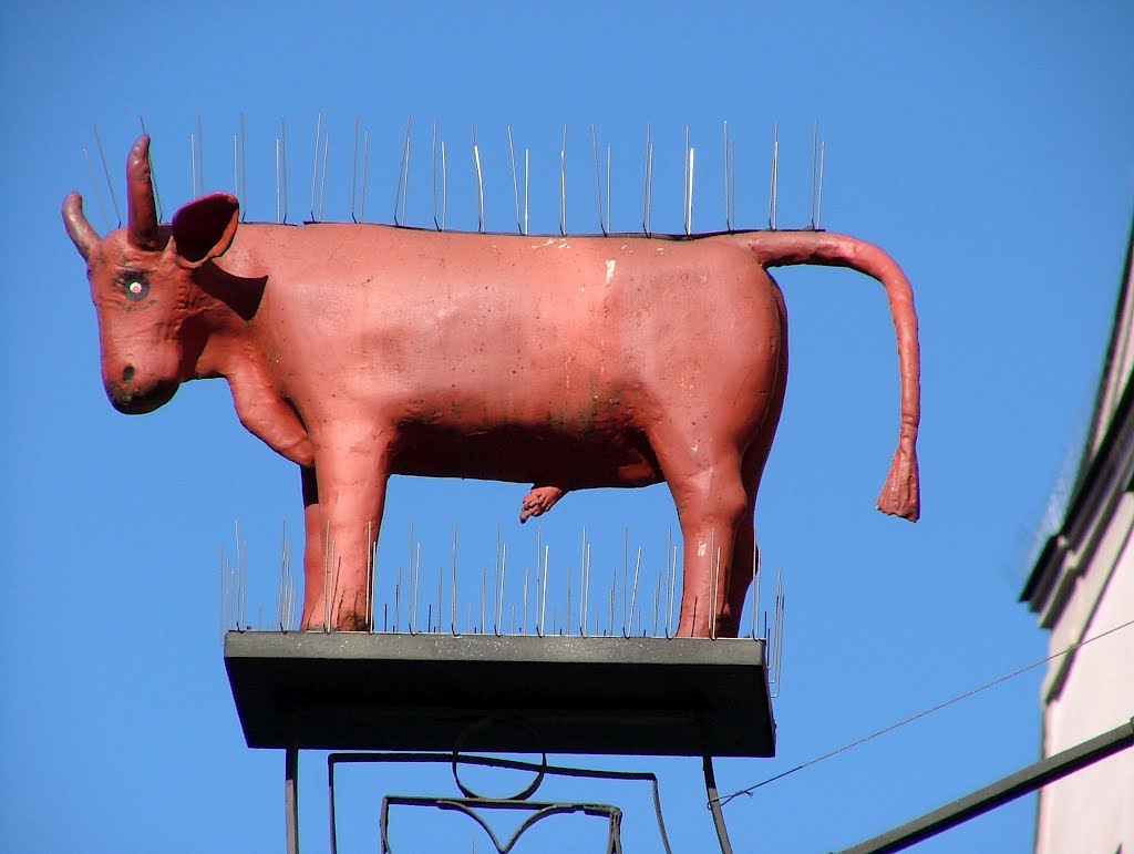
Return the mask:
<svg viewBox="0 0 1134 854"><path fill-rule="evenodd" d="M139 117L142 132L146 133L145 120ZM115 183L107 166L105 151L98 126L93 128L94 144L98 158L102 166L105 185L109 189L111 206L118 225L121 225L121 210L118 204L118 195ZM528 234L531 220L531 152L524 149L516 151L513 139L511 127L507 127L507 149L511 170L511 196L515 211L515 229L519 234ZM240 201L242 219L247 221L247 132L245 117L242 113L237 133L232 134L232 194ZM289 192L289 179L291 177L288 168L288 124L281 117L276 130L276 211L274 222L286 223L291 209L291 193ZM611 147L600 146L598 133L594 125L590 127L589 160L593 166L594 174L594 203L593 211L598 218L599 230L592 234L612 235L611 229ZM559 234L567 235L567 168L568 168L568 127L562 129L562 143L558 152L559 161ZM728 121L725 121L721 130L721 164L720 176L723 185L723 228L714 231L695 232L693 225L694 196L697 180L696 149L691 144L689 129L685 128L685 153L684 153L684 176L682 186L682 222L683 231L674 235L676 237L695 237L703 234L736 230L736 147L733 134L729 132ZM327 208L327 168L330 160L331 137L330 132L324 128L323 115L319 113L315 120L314 146L311 167L311 194L310 204L304 214L305 222L325 221L324 212ZM809 229L819 230L822 215L823 198L823 170L827 153L827 145L819 138L819 122L812 126L811 144L811 217ZM366 217L367 188L371 178L370 163L370 130L361 127L361 120L356 117L354 121L354 137L350 143L352 150L352 172L350 172L350 220L363 222ZM188 136L188 168L191 171L191 186L194 196L205 192L205 162L204 162L204 133L201 117L197 116L196 129ZM430 193L432 196L432 221L418 227L434 228L437 230L448 230L449 219L449 174L450 169L458 160L465 160L467 168L473 170L476 187L476 222L477 231L486 231L484 212L484 175L481 164L482 147L476 139L475 126L471 128L471 145L467 151L456 153L443 139L438 137L438 122L432 124L429 139L429 167L430 167ZM101 181L98 177L95 164L91 151L83 150L86 160L87 171L94 187L95 203L102 214L104 222L112 221L103 200ZM409 226L406 221L407 202L409 198L409 175L411 161L414 155L414 126L413 119L406 121L405 136L400 146L400 162L398 164L397 181L393 191L392 222L395 226ZM172 160L172 158L170 159ZM572 158L574 160L574 157ZM640 177L642 187L642 219L641 231L633 234L653 235L653 160L654 142L652 126L646 126L645 144L641 154ZM161 163L162 170L169 168ZM210 169L212 166L210 164ZM227 167L226 167L227 169ZM158 186L156 167L151 163L153 175L154 195L158 203L159 219L163 218L161 192ZM771 135L771 158L770 179L768 197L768 228L777 229L777 208L779 201L779 122L772 127ZM372 202L373 206L373 202ZM574 209L574 203L573 203ZM574 220L574 215L573 215ZM510 230L510 229L509 229ZM629 232L624 232L629 234Z"/></svg>

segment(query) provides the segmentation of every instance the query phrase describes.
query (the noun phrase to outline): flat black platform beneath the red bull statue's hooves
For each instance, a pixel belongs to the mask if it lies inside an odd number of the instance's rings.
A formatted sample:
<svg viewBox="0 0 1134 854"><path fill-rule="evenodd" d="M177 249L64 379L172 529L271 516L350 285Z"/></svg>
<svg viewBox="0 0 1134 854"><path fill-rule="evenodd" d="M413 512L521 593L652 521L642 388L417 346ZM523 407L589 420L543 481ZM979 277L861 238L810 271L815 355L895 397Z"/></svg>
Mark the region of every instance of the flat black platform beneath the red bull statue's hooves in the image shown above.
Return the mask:
<svg viewBox="0 0 1134 854"><path fill-rule="evenodd" d="M249 747L776 753L751 639L229 632L225 666Z"/></svg>

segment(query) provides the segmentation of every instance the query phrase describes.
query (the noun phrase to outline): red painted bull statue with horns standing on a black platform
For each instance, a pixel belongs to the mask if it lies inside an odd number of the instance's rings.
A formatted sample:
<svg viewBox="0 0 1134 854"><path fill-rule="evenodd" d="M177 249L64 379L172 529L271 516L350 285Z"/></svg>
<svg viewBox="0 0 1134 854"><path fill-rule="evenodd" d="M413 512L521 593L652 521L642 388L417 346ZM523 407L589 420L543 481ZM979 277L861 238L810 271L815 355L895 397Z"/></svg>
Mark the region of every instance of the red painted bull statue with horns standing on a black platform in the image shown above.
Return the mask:
<svg viewBox="0 0 1134 854"><path fill-rule="evenodd" d="M227 193L162 225L147 136L126 174L125 228L100 238L77 193L62 208L107 395L139 414L186 380L228 380L244 426L299 466L304 628L369 627L387 482L412 474L533 483L522 519L569 490L665 481L684 541L677 633L735 635L787 380L770 267L848 267L886 288L902 417L878 507L919 516L917 318L906 277L871 244L242 223Z"/></svg>

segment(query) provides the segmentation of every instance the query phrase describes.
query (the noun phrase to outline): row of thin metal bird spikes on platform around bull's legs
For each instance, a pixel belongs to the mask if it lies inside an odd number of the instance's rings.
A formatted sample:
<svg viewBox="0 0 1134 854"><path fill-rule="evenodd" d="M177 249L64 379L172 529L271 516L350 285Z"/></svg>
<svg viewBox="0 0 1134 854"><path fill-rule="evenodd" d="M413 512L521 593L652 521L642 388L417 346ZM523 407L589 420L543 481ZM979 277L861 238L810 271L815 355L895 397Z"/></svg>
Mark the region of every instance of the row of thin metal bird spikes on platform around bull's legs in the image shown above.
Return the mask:
<svg viewBox="0 0 1134 854"><path fill-rule="evenodd" d="M534 551L517 558L509 549L501 529L496 532L491 552L492 567L472 572L459 557L460 539L454 527L451 550L447 549L443 565L433 572L423 548L409 523L409 548L395 567L379 567L378 543L373 531L367 531L371 548L367 575L367 632L381 634L496 634L547 636L618 636L667 637L676 632L677 607L680 599L679 549L672 531L667 533L661 567L651 566L649 556L643 560L643 547L631 546L629 527L623 529L621 555L615 560L592 560L592 541L586 529L582 531L577 552L562 557L553 555L551 543L535 529ZM484 543L479 543L484 546ZM528 543L531 546L531 543ZM473 549L477 551L477 549ZM718 556L719 559L719 556ZM328 540L323 555L328 608L336 599L331 567L337 561L333 541ZM777 683L784 646L784 572L776 577L776 598L772 611L760 610L759 552L751 557L752 585L744 607L741 637L762 639L768 642L769 677ZM458 568L460 564L460 568ZM744 572L745 561L737 559L736 572ZM479 583L479 589L469 589ZM235 555L220 549L220 628L221 637L229 631L291 632L298 628L297 576L291 560L291 544L284 526L274 615L256 607L253 623L248 617L248 544L242 539L236 523ZM255 584L268 590L266 584ZM464 591L464 592L462 592ZM479 592L477 592L479 591ZM718 592L710 592L710 599ZM722 593L721 593L722 594ZM713 608L708 601L705 607ZM316 626L316 631L318 631ZM324 615L322 628L330 631L330 612Z"/></svg>

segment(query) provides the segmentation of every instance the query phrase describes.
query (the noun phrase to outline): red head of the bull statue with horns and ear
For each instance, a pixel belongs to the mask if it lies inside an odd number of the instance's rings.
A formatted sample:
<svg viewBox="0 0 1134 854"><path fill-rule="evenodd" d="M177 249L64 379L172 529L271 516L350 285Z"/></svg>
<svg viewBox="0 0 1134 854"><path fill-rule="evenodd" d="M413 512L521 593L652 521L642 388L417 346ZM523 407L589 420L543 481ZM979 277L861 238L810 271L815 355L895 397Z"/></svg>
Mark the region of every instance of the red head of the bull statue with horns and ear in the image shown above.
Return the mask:
<svg viewBox="0 0 1134 854"><path fill-rule="evenodd" d="M139 137L127 158L126 198L126 228L104 238L87 222L78 193L67 196L62 214L86 260L107 396L119 412L141 414L167 403L193 377L205 336L194 328L203 301L194 274L231 245L239 204L227 193L213 193L160 225L149 136Z"/></svg>

